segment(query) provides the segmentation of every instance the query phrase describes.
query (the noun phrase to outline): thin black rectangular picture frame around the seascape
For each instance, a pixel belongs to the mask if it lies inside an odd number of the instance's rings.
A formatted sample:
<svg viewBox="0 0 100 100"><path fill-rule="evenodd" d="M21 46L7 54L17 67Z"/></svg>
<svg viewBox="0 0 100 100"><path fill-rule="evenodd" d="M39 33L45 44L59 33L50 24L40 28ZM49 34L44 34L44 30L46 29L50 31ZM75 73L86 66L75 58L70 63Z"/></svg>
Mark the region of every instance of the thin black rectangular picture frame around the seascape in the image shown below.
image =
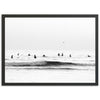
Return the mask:
<svg viewBox="0 0 100 100"><path fill-rule="evenodd" d="M97 86L98 85L98 14L3 14L2 16L2 86ZM95 83L6 83L5 82L5 18L95 18Z"/></svg>

